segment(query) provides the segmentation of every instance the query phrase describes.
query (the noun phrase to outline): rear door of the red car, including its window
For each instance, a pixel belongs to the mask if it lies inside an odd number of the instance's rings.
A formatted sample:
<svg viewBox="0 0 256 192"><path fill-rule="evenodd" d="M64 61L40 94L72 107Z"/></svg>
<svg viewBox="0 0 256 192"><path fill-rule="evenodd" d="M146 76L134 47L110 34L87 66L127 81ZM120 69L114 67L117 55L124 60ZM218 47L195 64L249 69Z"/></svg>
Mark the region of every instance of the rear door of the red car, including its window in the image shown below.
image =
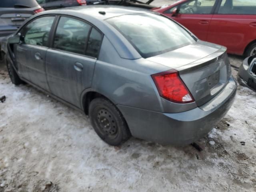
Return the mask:
<svg viewBox="0 0 256 192"><path fill-rule="evenodd" d="M228 48L228 52L242 55L246 46L256 39L256 1L222 0L212 17L209 42Z"/></svg>

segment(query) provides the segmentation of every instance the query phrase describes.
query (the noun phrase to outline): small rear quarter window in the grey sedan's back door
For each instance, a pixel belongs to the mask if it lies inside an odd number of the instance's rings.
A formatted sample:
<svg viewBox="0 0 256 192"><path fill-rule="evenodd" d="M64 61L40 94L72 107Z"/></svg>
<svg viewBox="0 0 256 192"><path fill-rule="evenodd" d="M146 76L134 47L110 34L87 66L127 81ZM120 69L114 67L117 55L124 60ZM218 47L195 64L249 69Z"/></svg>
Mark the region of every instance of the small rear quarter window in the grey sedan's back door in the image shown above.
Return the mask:
<svg viewBox="0 0 256 192"><path fill-rule="evenodd" d="M86 55L97 58L100 51L102 34L98 30L92 28L86 49Z"/></svg>

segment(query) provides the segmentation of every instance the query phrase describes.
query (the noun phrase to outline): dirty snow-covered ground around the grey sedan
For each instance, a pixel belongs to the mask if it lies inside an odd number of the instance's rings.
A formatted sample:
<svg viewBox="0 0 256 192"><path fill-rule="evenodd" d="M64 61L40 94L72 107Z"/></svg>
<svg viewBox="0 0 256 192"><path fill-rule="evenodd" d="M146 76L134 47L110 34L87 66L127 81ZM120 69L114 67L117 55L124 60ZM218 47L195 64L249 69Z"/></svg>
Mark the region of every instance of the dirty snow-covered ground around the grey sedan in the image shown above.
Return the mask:
<svg viewBox="0 0 256 192"><path fill-rule="evenodd" d="M2 95L0 192L256 191L256 93L248 88L238 86L226 117L197 142L202 152L136 138L108 146L88 117L14 86L3 67Z"/></svg>

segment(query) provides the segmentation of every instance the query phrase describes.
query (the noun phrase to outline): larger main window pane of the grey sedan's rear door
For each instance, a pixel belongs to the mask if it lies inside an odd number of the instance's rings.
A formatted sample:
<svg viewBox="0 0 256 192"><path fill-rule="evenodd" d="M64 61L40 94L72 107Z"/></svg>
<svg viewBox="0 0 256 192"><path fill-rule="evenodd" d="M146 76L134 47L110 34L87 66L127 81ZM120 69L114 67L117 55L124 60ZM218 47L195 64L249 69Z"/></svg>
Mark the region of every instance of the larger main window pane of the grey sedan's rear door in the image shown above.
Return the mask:
<svg viewBox="0 0 256 192"><path fill-rule="evenodd" d="M83 21L61 17L54 36L53 47L59 50L84 54L91 26Z"/></svg>

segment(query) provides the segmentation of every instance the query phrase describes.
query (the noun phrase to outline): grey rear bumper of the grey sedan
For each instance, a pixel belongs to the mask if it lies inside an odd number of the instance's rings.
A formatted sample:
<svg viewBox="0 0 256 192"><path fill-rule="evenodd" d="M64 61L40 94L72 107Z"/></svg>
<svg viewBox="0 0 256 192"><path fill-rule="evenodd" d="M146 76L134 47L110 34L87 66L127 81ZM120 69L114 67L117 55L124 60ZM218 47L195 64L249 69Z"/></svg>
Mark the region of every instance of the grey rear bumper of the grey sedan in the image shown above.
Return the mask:
<svg viewBox="0 0 256 192"><path fill-rule="evenodd" d="M160 113L117 105L132 136L160 144L186 145L208 134L234 102L236 82L228 84L203 106L181 113Z"/></svg>

